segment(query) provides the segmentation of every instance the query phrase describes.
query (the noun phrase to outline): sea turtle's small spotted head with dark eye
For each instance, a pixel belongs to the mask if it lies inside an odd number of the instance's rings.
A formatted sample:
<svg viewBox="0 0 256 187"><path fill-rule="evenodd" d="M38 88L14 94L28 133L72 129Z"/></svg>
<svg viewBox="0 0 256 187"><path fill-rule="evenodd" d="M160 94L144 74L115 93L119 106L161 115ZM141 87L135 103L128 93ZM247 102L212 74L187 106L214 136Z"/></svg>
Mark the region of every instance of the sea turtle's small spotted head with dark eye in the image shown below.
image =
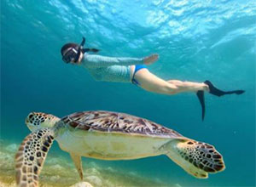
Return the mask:
<svg viewBox="0 0 256 187"><path fill-rule="evenodd" d="M54 127L56 122L59 122L60 118L53 116L51 114L46 114L42 112L31 112L26 117L26 126L35 132L40 128Z"/></svg>

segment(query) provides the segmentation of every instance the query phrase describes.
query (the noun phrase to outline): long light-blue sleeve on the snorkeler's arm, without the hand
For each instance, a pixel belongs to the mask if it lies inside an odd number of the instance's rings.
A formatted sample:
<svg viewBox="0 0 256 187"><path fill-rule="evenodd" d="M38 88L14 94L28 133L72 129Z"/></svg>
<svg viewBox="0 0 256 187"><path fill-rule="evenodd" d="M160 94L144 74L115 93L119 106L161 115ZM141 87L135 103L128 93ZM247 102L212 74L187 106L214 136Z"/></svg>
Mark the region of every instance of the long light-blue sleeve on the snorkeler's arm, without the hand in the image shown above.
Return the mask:
<svg viewBox="0 0 256 187"><path fill-rule="evenodd" d="M143 58L118 58L94 54L84 55L82 64L90 68L107 67L110 65L143 65Z"/></svg>

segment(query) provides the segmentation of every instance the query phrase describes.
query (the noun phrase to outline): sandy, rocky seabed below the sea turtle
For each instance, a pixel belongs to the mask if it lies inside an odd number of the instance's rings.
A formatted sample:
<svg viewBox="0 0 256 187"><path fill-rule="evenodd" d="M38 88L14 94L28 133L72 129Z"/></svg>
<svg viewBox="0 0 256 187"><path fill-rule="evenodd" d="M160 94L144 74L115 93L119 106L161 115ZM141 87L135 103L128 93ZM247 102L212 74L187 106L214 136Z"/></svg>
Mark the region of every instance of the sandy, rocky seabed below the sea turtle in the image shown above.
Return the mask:
<svg viewBox="0 0 256 187"><path fill-rule="evenodd" d="M15 152L19 144L0 140L0 186L15 186ZM165 184L160 179L150 179L138 176L136 171L126 173L113 169L103 168L93 161L86 163L84 167L84 181L95 187L113 186L175 186L179 184ZM64 156L51 156L50 152L44 163L39 177L40 187L65 187L81 182L79 175L73 166L73 161ZM84 186L84 185L82 185Z"/></svg>

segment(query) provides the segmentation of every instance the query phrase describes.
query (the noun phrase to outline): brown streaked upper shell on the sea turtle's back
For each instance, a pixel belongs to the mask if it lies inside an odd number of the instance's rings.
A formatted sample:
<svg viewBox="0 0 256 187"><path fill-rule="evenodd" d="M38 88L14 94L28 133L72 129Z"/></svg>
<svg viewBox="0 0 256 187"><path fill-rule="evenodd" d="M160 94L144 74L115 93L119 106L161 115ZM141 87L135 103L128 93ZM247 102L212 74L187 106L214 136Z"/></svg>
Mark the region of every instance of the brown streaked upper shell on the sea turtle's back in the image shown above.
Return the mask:
<svg viewBox="0 0 256 187"><path fill-rule="evenodd" d="M84 131L131 133L139 135L182 138L176 131L137 116L112 111L83 111L61 119L70 127Z"/></svg>

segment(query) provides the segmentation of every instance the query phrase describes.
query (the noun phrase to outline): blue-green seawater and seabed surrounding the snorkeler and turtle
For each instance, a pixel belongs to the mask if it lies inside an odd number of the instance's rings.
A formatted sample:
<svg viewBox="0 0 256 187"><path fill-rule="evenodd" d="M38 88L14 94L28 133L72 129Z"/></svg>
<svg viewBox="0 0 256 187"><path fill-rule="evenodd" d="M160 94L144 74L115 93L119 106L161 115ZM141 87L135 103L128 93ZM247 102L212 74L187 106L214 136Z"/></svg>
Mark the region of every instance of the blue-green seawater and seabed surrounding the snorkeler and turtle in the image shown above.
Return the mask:
<svg viewBox="0 0 256 187"><path fill-rule="evenodd" d="M201 122L195 94L166 96L129 83L96 82L83 67L65 64L61 46L79 43L83 36L85 45L100 48L102 55L160 54L148 69L164 79L211 80L218 88L246 93L221 98L206 94ZM253 0L1 1L0 180L14 180L13 156L30 133L25 125L29 112L61 117L105 110L142 116L213 144L226 169L197 179L167 156L83 158L84 169L97 168L84 171L85 176L101 175L102 184L95 186L255 186L255 39ZM67 152L55 143L48 156L40 182L54 174L53 185L79 182ZM51 168L57 163L59 169ZM71 177L71 182L64 180Z"/></svg>

